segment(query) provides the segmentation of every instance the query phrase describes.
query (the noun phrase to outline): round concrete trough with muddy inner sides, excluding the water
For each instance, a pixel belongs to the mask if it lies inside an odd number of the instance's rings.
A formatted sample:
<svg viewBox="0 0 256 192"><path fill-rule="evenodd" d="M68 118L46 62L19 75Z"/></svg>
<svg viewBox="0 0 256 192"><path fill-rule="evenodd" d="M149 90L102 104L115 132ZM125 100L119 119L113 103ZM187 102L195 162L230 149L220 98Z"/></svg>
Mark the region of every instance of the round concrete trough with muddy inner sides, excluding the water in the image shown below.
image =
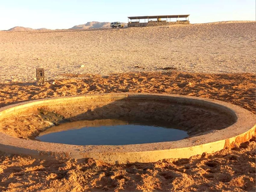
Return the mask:
<svg viewBox="0 0 256 192"><path fill-rule="evenodd" d="M51 114L55 116L48 116ZM179 141L132 145L68 145L35 141L53 124L120 119L174 123L188 132ZM48 158L95 158L107 163L189 158L239 146L255 135L255 115L222 101L170 94L97 94L47 98L0 109L0 150Z"/></svg>

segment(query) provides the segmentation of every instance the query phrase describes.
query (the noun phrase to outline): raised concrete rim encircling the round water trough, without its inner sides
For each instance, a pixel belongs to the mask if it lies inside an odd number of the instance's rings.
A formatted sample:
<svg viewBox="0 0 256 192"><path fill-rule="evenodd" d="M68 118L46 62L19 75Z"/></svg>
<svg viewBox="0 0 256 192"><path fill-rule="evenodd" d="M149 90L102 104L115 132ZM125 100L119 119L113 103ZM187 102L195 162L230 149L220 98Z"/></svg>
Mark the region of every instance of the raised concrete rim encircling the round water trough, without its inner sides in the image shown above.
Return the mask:
<svg viewBox="0 0 256 192"><path fill-rule="evenodd" d="M25 140L11 137L0 132L0 150L6 153L26 154L41 159L50 158L95 158L106 163L127 162L155 162L160 159L189 158L194 155L214 153L226 147L238 147L242 142L255 136L255 115L242 107L223 101L173 94L146 94L146 93L107 93L45 98L34 101L13 104L0 108L0 121L9 114L15 114L27 107L51 102L65 102L70 100L89 98L171 98L177 103L199 104L206 107L218 107L225 110L236 119L236 122L221 130L214 130L204 135L194 136L179 141L131 144L131 145L68 145L46 143L34 140Z"/></svg>

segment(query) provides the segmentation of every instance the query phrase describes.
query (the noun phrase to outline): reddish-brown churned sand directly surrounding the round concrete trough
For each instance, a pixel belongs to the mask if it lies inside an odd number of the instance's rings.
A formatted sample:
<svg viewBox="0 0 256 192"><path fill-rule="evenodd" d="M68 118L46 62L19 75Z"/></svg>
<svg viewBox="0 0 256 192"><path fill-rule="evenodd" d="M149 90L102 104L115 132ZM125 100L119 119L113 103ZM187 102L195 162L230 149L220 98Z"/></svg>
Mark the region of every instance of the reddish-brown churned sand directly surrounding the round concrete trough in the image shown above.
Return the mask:
<svg viewBox="0 0 256 192"><path fill-rule="evenodd" d="M214 98L255 113L255 75L180 73L63 74L52 85L0 84L0 107L45 97L151 92ZM71 78L71 79L69 79ZM74 79L74 78L80 78ZM15 122L14 122L15 123ZM109 165L96 159L45 161L0 153L1 191L255 191L255 138L189 159Z"/></svg>

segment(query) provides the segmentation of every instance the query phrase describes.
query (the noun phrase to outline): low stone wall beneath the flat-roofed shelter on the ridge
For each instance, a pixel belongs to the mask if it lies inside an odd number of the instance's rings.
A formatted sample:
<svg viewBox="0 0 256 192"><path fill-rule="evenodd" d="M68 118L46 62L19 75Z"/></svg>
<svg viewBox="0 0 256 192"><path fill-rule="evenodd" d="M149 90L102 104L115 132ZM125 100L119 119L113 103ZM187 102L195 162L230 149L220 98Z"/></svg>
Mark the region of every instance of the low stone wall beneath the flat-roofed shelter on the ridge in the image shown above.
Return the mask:
<svg viewBox="0 0 256 192"><path fill-rule="evenodd" d="M148 23L129 22L128 27L150 27L150 26L174 25L174 24L189 24L189 21L188 20L176 21L176 22L150 21Z"/></svg>

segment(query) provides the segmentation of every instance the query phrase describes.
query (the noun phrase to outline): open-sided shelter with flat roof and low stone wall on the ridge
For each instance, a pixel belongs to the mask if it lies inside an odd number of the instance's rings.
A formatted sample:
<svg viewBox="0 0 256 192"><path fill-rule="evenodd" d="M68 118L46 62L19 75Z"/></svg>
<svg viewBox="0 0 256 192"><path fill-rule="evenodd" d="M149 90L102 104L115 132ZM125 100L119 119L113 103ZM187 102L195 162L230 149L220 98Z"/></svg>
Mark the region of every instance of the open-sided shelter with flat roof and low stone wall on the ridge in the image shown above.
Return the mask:
<svg viewBox="0 0 256 192"><path fill-rule="evenodd" d="M172 18L176 18L176 21L171 21ZM143 19L144 22L141 22L141 20ZM189 24L189 15L155 15L128 17L128 27L146 27L173 24Z"/></svg>

